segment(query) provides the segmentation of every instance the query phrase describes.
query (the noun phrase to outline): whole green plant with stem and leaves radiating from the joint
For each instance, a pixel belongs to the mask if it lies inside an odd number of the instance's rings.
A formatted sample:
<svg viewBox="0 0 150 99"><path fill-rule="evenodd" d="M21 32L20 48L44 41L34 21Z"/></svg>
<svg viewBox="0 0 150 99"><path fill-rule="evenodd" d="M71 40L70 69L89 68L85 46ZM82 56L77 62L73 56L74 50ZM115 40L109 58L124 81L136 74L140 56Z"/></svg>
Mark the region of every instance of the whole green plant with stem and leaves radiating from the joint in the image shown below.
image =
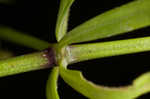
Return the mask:
<svg viewBox="0 0 150 99"><path fill-rule="evenodd" d="M41 50L1 60L0 76L52 67L47 82L48 99L59 99L57 93L59 75L72 88L91 99L133 99L149 92L149 72L136 78L130 86L114 88L95 85L87 81L80 71L67 69L67 66L90 59L149 51L150 37L89 44L74 43L102 39L149 26L150 1L133 1L98 15L67 33L69 9L73 2L74 0L61 0L56 24L58 43L49 44L10 28L0 28L1 39ZM13 33L11 37L10 33Z"/></svg>

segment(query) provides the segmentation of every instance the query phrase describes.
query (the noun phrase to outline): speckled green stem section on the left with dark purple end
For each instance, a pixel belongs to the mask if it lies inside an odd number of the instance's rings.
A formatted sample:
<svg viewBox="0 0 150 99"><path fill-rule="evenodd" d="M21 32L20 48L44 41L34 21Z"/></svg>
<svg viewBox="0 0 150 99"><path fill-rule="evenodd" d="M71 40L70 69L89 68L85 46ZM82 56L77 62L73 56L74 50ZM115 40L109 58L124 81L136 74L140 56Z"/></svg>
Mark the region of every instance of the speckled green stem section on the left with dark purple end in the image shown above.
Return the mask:
<svg viewBox="0 0 150 99"><path fill-rule="evenodd" d="M0 77L55 66L52 50L22 55L0 61ZM51 56L50 56L51 55Z"/></svg>

